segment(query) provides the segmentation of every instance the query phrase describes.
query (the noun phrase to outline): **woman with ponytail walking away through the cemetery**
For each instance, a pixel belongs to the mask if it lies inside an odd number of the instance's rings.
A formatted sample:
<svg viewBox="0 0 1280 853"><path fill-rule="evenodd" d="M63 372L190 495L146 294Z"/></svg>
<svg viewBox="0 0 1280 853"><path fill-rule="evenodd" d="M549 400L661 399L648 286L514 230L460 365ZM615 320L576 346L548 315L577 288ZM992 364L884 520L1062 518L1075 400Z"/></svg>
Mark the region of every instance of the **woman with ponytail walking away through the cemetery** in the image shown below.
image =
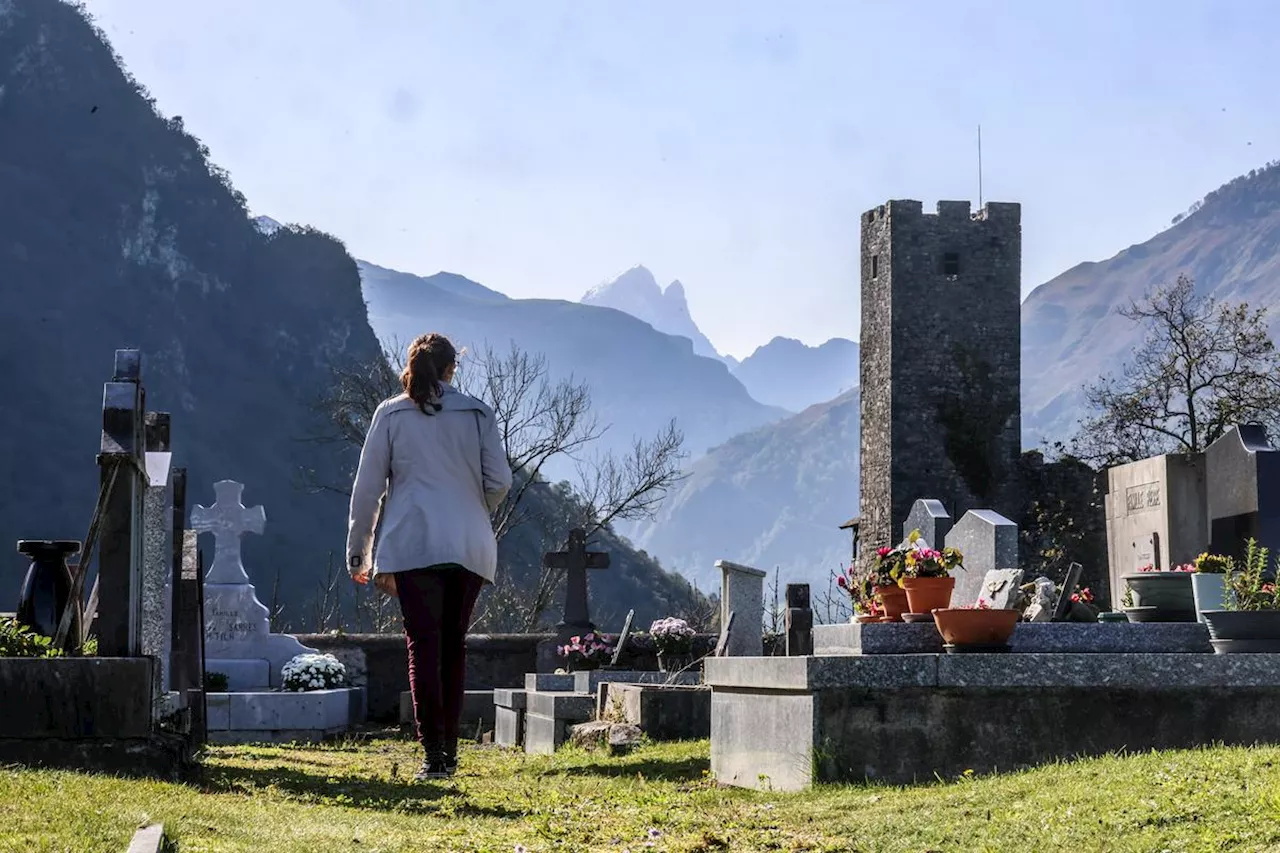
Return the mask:
<svg viewBox="0 0 1280 853"><path fill-rule="evenodd" d="M369 583L372 567L378 588L399 598L413 722L426 752L420 780L458 766L466 633L498 566L490 515L511 489L493 411L449 384L456 369L443 334L410 345L404 393L383 402L369 425L347 532L352 579Z"/></svg>

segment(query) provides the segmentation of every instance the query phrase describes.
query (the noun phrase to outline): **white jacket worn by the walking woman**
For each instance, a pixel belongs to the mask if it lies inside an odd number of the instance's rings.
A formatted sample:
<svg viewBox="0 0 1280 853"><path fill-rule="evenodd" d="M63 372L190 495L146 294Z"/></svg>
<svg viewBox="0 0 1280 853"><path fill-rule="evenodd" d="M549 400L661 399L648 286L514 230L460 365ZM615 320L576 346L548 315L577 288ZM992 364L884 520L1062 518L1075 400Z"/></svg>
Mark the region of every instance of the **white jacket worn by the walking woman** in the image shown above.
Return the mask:
<svg viewBox="0 0 1280 853"><path fill-rule="evenodd" d="M440 411L401 394L374 412L351 489L348 569L351 557L369 565L376 526L378 574L457 564L493 581L490 514L511 489L511 466L493 410L442 389Z"/></svg>

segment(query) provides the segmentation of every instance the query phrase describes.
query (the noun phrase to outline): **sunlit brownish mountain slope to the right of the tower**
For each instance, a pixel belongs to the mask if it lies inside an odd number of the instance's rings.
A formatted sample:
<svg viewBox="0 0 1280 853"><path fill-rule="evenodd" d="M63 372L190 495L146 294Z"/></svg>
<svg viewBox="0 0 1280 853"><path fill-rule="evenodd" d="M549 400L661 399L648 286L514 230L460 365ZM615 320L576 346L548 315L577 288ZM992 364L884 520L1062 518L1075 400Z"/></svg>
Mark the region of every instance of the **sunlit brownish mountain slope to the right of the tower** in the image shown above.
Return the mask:
<svg viewBox="0 0 1280 853"><path fill-rule="evenodd" d="M1119 373L1142 330L1116 314L1180 273L1199 293L1270 309L1280 338L1280 165L1211 192L1165 232L1114 257L1074 266L1023 304L1023 446L1070 437L1082 386Z"/></svg>

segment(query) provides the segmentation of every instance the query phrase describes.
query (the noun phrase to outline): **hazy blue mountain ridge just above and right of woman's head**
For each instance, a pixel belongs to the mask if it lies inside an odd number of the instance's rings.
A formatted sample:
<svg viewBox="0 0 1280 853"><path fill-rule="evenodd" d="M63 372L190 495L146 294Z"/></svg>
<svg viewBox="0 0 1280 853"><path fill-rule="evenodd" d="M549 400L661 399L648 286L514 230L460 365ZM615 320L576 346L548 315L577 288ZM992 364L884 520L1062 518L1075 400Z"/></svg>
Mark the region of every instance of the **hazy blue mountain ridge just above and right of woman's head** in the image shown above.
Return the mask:
<svg viewBox="0 0 1280 853"><path fill-rule="evenodd" d="M516 342L547 356L556 377L591 388L593 411L611 425L600 448L630 450L675 418L685 450L699 456L786 412L750 397L728 368L694 352L689 338L655 330L630 314L561 300L512 300L460 275L419 277L361 261L369 319L383 341L443 332L480 350ZM463 365L465 369L465 365ZM572 471L559 470L556 476Z"/></svg>

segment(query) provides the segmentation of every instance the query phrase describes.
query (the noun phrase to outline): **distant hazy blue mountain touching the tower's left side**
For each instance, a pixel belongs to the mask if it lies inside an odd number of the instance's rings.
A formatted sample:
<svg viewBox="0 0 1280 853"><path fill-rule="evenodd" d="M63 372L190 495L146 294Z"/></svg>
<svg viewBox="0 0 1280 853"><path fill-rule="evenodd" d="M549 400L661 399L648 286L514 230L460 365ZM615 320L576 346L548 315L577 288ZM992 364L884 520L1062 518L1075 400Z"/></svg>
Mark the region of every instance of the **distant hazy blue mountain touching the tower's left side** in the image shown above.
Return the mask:
<svg viewBox="0 0 1280 853"><path fill-rule="evenodd" d="M801 411L858 386L859 352L858 343L845 338L817 347L773 338L742 359L733 375L760 402Z"/></svg>

